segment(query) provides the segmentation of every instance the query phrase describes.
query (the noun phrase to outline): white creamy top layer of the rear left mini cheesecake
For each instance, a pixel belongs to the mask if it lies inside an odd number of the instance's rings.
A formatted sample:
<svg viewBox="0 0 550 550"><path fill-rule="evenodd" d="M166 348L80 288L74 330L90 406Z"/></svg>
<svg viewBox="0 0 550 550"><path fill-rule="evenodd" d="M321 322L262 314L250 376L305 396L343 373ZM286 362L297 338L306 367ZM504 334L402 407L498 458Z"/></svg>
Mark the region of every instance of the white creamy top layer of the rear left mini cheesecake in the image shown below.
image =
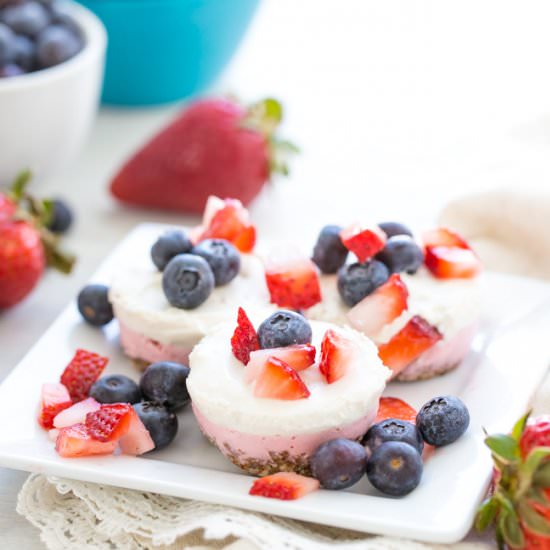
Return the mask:
<svg viewBox="0 0 550 550"><path fill-rule="evenodd" d="M216 325L237 318L237 309L274 310L269 303L262 262L241 254L241 270L227 285L216 287L196 309L171 306L162 290L162 273L154 267L119 270L109 300L115 316L127 328L163 344L194 345Z"/></svg>

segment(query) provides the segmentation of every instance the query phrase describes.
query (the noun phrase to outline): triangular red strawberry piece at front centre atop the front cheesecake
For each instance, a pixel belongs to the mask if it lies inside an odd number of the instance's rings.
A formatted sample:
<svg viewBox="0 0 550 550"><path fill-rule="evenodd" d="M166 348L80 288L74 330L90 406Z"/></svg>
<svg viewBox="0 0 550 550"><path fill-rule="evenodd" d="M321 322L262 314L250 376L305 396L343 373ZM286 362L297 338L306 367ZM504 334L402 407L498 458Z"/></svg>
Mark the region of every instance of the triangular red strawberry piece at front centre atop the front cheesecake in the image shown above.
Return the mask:
<svg viewBox="0 0 550 550"><path fill-rule="evenodd" d="M256 378L254 395L294 401L309 397L309 390L292 367L276 357L269 357Z"/></svg>

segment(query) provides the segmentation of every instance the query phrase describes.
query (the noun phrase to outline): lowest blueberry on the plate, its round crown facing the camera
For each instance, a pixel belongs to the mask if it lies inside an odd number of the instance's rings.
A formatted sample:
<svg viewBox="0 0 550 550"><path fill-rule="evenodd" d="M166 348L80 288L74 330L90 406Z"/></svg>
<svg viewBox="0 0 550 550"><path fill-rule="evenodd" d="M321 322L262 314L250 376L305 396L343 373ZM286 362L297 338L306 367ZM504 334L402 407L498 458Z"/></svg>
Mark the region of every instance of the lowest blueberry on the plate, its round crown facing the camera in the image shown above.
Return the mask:
<svg viewBox="0 0 550 550"><path fill-rule="evenodd" d="M420 453L401 441L382 443L367 462L367 477L371 484L394 497L407 495L416 489L422 471Z"/></svg>

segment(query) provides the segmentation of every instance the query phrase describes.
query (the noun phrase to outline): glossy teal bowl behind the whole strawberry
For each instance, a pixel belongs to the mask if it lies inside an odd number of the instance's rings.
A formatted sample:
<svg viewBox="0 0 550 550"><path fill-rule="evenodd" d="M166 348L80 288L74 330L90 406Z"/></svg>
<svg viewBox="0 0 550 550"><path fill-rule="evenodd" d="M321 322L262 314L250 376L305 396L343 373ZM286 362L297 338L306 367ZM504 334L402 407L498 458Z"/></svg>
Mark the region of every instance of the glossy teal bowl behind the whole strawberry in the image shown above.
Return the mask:
<svg viewBox="0 0 550 550"><path fill-rule="evenodd" d="M103 103L191 97L235 53L259 0L80 0L107 29Z"/></svg>

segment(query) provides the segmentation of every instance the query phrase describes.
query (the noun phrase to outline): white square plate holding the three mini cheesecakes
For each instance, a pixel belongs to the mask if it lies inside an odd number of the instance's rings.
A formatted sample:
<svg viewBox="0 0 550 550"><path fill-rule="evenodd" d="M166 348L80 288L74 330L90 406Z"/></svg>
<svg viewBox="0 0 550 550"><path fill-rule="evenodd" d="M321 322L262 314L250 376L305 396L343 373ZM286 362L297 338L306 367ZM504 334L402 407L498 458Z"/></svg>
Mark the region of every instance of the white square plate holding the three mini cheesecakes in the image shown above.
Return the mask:
<svg viewBox="0 0 550 550"><path fill-rule="evenodd" d="M149 262L148 250L165 226L132 231L93 278L108 283L118 264ZM441 394L458 395L471 425L457 443L440 449L425 465L420 486L409 496L376 494L363 480L349 491L317 491L283 502L248 495L252 478L240 473L202 437L188 409L176 441L146 457L63 459L36 422L43 382L56 381L76 348L111 358L108 371L138 378L122 354L116 322L105 330L86 326L74 303L29 351L0 387L0 465L67 478L153 491L370 533L449 543L468 531L491 473L482 427L508 430L526 410L550 361L550 285L486 273L483 318L464 364L425 382L392 383L387 395L413 406Z"/></svg>

